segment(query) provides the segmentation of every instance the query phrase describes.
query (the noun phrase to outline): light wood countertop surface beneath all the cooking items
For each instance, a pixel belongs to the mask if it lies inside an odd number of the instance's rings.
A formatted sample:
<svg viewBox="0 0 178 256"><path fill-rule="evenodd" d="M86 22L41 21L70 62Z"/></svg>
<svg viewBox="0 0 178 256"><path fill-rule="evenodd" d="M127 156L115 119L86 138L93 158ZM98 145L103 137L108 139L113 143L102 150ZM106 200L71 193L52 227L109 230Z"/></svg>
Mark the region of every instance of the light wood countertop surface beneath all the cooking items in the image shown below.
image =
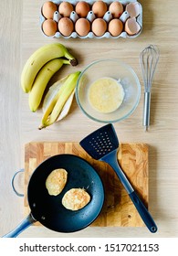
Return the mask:
<svg viewBox="0 0 178 256"><path fill-rule="evenodd" d="M69 70L84 69L100 58L117 58L135 70L141 82L141 101L136 111L114 127L121 142L149 144L149 210L158 225L156 234L146 228L94 228L63 234L31 226L19 237L177 237L178 236L178 2L140 1L143 30L134 39L51 39L39 28L44 1L0 1L0 236L24 218L23 198L11 187L15 172L24 167L24 145L31 141L79 142L102 124L89 120L74 101L68 117L42 131L37 130L41 112L30 112L27 95L20 88L26 59L38 47L59 41L79 59ZM143 80L139 55L155 44L160 60L152 84L151 126L142 127ZM65 75L65 72L62 75ZM23 176L18 186L23 187Z"/></svg>

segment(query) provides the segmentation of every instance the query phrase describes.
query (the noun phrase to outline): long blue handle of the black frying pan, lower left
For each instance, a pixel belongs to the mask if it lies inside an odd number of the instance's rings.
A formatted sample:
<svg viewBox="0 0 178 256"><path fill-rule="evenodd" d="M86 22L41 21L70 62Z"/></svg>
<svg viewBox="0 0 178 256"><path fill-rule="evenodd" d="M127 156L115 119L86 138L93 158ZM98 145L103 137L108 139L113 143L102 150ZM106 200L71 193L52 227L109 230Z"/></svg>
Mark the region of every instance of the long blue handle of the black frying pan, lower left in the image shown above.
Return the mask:
<svg viewBox="0 0 178 256"><path fill-rule="evenodd" d="M13 229L9 233L7 233L3 238L16 238L23 230L25 230L27 227L29 227L31 224L36 222L37 220L33 218L31 213L24 219L17 227L16 229Z"/></svg>

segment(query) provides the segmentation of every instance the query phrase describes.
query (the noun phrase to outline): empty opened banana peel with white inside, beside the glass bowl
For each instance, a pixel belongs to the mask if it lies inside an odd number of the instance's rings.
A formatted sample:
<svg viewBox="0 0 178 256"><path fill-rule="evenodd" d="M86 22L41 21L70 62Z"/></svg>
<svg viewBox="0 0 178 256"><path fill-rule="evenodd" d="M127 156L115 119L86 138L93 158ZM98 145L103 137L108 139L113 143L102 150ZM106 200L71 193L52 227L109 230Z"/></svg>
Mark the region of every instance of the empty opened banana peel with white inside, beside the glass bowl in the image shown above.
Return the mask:
<svg viewBox="0 0 178 256"><path fill-rule="evenodd" d="M47 91L43 102L43 117L38 129L62 120L70 110L80 71L71 73L55 82Z"/></svg>

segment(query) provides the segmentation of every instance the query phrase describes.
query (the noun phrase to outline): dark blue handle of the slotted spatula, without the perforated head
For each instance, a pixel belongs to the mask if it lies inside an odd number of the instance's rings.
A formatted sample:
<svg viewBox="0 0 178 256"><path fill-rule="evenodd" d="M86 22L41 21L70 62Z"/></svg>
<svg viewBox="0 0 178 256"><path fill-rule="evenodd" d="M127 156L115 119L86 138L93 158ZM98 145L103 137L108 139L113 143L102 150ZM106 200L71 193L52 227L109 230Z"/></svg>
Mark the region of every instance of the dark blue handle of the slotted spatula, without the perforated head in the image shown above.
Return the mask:
<svg viewBox="0 0 178 256"><path fill-rule="evenodd" d="M117 150L113 150L110 154L105 155L100 159L108 163L115 171L117 176L120 178L120 182L125 187L126 191L128 192L129 196L131 197L131 201L133 202L135 208L137 208L141 219L144 221L147 228L152 232L155 233L157 231L156 224L152 219L151 214L149 213L148 209L144 206L141 202L141 198L136 194L133 187L131 187L131 183L128 180L127 176L124 175L123 171L120 168L120 165L117 161Z"/></svg>

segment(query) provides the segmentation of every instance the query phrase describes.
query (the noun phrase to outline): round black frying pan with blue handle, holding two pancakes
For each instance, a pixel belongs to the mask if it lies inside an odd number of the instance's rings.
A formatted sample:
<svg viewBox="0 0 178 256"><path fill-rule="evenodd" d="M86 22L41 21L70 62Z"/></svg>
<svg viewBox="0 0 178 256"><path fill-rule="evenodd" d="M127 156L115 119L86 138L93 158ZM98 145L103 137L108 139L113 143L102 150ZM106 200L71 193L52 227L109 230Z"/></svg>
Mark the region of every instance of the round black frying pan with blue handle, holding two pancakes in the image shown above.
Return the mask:
<svg viewBox="0 0 178 256"><path fill-rule="evenodd" d="M50 196L46 188L46 179L58 168L67 170L68 182L58 196ZM76 211L64 208L61 200L70 188L86 189L91 197L89 204ZM58 232L84 229L98 217L104 202L104 189L98 173L86 160L76 155L55 155L37 166L29 180L27 198L31 213L4 237L16 237L36 221Z"/></svg>

